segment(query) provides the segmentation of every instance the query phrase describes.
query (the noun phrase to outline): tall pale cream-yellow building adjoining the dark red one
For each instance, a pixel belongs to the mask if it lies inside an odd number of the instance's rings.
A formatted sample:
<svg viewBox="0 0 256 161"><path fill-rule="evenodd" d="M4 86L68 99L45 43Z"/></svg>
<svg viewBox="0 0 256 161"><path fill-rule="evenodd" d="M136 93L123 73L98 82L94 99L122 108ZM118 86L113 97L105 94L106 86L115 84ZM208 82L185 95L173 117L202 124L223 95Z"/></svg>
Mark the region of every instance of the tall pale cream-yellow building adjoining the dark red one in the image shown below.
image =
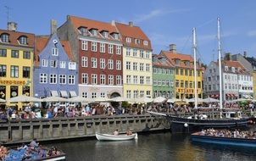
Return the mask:
<svg viewBox="0 0 256 161"><path fill-rule="evenodd" d="M140 27L115 23L123 43L124 97L152 97L152 47Z"/></svg>

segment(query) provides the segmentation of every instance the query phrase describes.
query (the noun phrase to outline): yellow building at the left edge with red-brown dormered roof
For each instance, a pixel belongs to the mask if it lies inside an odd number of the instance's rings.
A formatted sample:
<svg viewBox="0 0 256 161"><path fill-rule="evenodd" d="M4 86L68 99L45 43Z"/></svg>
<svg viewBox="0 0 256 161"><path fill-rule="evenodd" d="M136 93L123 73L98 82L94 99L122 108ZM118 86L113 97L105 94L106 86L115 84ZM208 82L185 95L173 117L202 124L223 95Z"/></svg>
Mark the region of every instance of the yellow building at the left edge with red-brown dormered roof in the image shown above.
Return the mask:
<svg viewBox="0 0 256 161"><path fill-rule="evenodd" d="M19 95L32 96L33 92L35 36L15 31L15 27L15 23L8 23L8 31L0 30L0 98L6 100ZM22 104L18 103L18 107L22 108Z"/></svg>

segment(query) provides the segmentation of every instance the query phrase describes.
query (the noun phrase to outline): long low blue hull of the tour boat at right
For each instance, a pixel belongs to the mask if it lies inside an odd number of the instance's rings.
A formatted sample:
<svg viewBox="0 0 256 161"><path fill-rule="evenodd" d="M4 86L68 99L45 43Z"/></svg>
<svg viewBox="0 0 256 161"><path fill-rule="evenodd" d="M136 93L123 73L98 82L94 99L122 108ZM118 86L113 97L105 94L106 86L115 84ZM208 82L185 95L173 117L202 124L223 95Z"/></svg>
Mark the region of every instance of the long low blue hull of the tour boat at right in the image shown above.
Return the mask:
<svg viewBox="0 0 256 161"><path fill-rule="evenodd" d="M220 136L202 136L200 132L193 133L191 135L192 142L205 142L222 144L228 146L240 146L240 147L256 147L256 139L244 139L234 137L220 137Z"/></svg>

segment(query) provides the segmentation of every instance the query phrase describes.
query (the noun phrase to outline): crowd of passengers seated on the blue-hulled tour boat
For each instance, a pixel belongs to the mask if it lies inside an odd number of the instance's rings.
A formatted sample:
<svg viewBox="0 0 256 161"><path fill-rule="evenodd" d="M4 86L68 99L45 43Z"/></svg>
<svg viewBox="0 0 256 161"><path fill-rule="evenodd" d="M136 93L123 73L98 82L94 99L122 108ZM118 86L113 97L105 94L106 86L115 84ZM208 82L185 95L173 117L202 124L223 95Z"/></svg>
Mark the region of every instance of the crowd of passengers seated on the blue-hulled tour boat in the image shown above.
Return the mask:
<svg viewBox="0 0 256 161"><path fill-rule="evenodd" d="M218 136L218 137L231 137L231 138L243 138L243 139L256 139L256 131L251 130L216 130L207 129L200 132L201 136Z"/></svg>

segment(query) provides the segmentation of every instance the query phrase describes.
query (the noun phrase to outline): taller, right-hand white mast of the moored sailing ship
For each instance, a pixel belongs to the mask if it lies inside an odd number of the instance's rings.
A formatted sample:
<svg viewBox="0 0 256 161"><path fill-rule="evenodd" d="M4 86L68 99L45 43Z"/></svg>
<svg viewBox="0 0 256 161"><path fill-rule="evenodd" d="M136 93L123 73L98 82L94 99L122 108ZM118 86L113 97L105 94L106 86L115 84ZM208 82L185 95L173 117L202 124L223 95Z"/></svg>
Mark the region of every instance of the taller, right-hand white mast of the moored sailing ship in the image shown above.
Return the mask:
<svg viewBox="0 0 256 161"><path fill-rule="evenodd" d="M221 46L220 46L220 18L218 17L218 54L219 54L219 74L220 74L220 109L222 109L222 69L221 69Z"/></svg>

